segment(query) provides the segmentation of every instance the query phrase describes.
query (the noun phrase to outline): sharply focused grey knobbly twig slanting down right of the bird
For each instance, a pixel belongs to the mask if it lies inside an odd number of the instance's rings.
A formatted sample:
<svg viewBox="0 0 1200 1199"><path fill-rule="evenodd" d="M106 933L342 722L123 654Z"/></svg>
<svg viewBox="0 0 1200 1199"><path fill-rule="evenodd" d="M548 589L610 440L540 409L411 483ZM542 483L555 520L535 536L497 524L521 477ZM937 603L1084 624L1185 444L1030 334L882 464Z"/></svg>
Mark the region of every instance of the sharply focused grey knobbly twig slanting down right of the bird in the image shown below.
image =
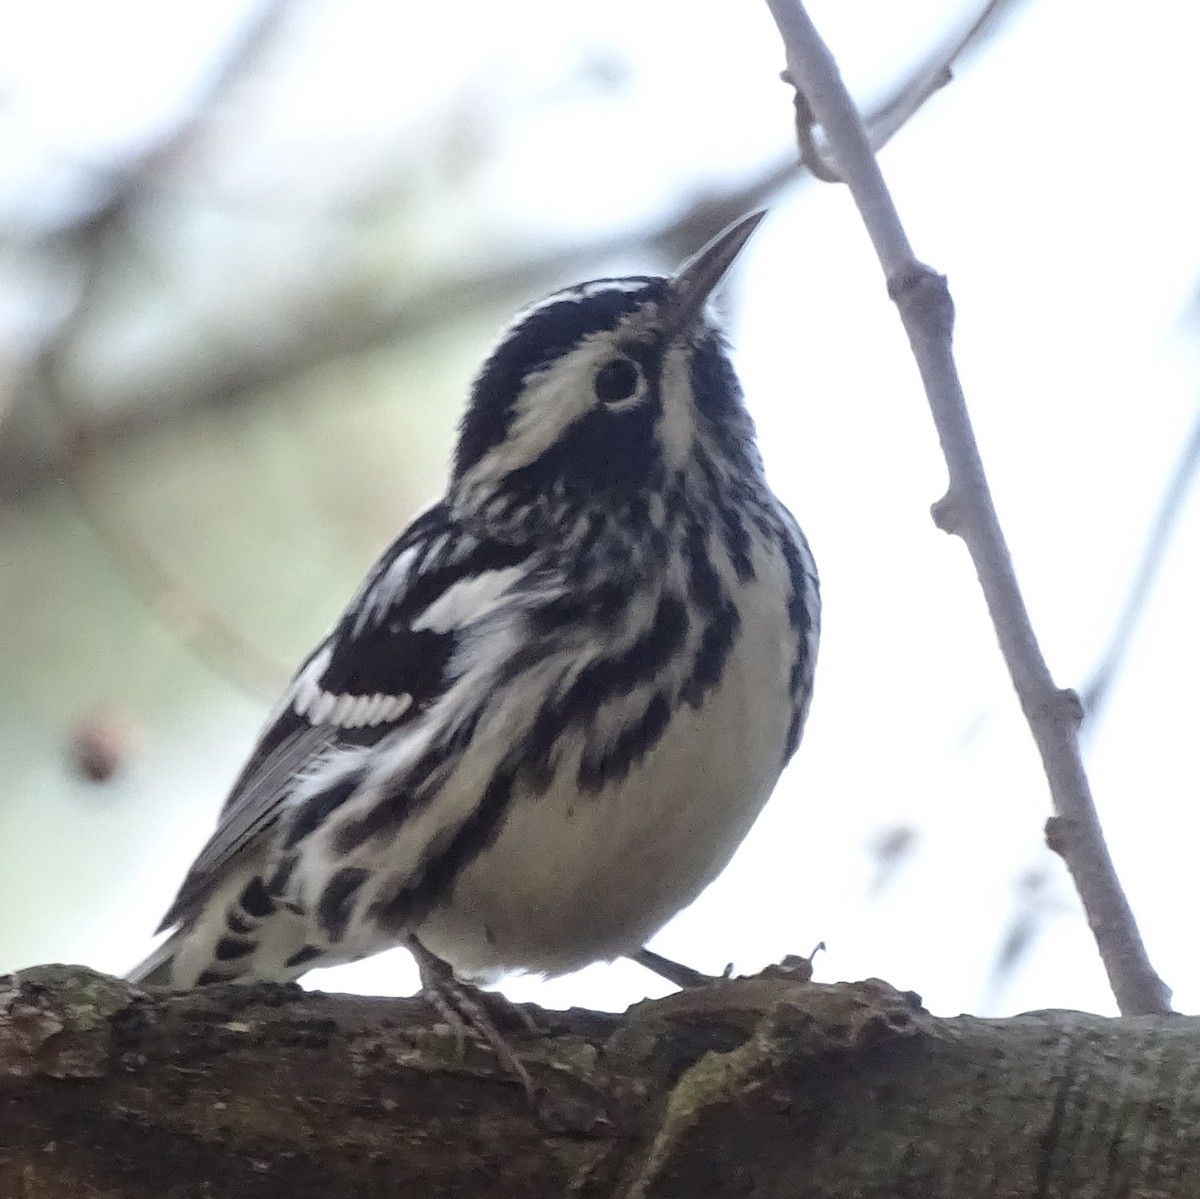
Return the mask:
<svg viewBox="0 0 1200 1199"><path fill-rule="evenodd" d="M1055 815L1046 840L1060 853L1126 1015L1170 1011L1100 829L1079 751L1081 707L1055 685L1042 657L996 518L952 350L954 306L946 278L918 262L838 66L800 0L767 0L784 38L787 70L805 95L850 186L895 300L937 426L949 487L935 522L962 538L974 564L1001 653L1033 732Z"/></svg>

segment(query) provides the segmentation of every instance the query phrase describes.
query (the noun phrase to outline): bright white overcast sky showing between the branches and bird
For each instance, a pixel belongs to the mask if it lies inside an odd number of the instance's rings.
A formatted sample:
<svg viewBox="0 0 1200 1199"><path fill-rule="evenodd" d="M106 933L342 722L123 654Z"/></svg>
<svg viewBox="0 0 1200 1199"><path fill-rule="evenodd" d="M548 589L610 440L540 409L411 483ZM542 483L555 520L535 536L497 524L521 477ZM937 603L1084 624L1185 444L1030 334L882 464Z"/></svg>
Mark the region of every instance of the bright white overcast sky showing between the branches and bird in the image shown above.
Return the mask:
<svg viewBox="0 0 1200 1199"><path fill-rule="evenodd" d="M504 103L479 120L500 149L462 239L479 239L480 211L515 241L649 221L689 181L752 172L786 149L788 98L766 6L618 2L571 20L548 0L505 5L503 19L482 0L452 16L365 0L325 16L312 7L290 82L254 136L328 149L347 128L360 142L401 128L419 145L431 114L487 66ZM826 0L810 10L868 102L970 6ZM56 170L144 136L240 12L238 0L103 12L61 0L10 14L6 220L36 222ZM1098 664L1195 420L1196 24L1170 0L1136 16L1030 0L882 155L918 256L949 276L968 403L1063 685L1082 685ZM606 53L629 72L616 116L599 92L546 102L580 61L602 64ZM452 254L452 224L434 236ZM701 969L732 960L751 970L824 941L818 978L884 977L942 1013L1111 1011L1069 882L1040 847L1045 784L965 551L928 515L944 468L847 196L809 187L781 198L744 259L728 298L738 365L772 479L821 566L826 635L796 762L727 874L655 947ZM1183 1009L1200 1006L1198 611L1192 493L1087 741L1114 855ZM224 775L208 784L211 814L260 715L239 703L214 755ZM130 964L210 820L188 816L161 879L124 897L90 940L47 943L46 955ZM913 831L912 849L880 885L874 844L894 829ZM1031 895L1039 935L997 989L997 953ZM394 991L412 989L415 975L390 955L311 981ZM618 1007L664 987L618 965L509 990Z"/></svg>

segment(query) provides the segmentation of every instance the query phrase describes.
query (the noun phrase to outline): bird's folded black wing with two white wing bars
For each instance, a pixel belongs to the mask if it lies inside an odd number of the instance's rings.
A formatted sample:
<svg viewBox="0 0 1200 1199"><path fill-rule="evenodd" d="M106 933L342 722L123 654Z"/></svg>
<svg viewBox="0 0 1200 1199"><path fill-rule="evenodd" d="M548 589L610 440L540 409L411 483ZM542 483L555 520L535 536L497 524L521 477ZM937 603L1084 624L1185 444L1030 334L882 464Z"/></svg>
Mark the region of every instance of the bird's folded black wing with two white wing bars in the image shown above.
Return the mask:
<svg viewBox="0 0 1200 1199"><path fill-rule="evenodd" d="M443 504L401 534L292 679L160 930L192 917L230 864L260 847L298 774L376 744L442 694L463 629L524 572L526 556L466 533Z"/></svg>

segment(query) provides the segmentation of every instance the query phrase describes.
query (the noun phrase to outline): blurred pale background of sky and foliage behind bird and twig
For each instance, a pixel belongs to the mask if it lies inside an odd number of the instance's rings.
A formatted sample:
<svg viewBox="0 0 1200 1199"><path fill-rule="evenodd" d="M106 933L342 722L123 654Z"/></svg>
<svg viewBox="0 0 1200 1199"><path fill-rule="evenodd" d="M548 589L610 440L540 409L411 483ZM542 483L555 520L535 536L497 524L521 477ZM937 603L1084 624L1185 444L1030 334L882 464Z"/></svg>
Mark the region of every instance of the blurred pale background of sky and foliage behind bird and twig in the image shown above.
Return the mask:
<svg viewBox="0 0 1200 1199"><path fill-rule="evenodd" d="M864 110L923 89L966 0L814 0ZM882 163L950 280L968 402L1151 957L1200 1007L1200 19L989 6ZM1112 1011L844 188L794 166L744 0L44 0L0 43L0 971L120 972L259 721L443 485L522 304L667 271L752 206L726 289L774 485L822 570L800 753L654 942L828 949L936 1012ZM314 972L406 993L391 953ZM505 988L623 1007L629 964Z"/></svg>

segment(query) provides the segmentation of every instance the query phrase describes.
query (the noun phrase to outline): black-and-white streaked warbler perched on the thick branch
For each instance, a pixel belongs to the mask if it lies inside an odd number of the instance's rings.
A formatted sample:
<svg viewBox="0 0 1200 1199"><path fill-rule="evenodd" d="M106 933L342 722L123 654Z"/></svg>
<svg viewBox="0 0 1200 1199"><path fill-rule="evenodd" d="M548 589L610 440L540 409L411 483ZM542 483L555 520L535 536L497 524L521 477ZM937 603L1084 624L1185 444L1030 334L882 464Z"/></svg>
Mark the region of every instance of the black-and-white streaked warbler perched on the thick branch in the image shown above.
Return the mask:
<svg viewBox="0 0 1200 1199"><path fill-rule="evenodd" d="M720 873L817 648L812 558L707 312L760 217L503 335L444 498L300 667L131 977L404 943L464 978L558 975L637 955Z"/></svg>

